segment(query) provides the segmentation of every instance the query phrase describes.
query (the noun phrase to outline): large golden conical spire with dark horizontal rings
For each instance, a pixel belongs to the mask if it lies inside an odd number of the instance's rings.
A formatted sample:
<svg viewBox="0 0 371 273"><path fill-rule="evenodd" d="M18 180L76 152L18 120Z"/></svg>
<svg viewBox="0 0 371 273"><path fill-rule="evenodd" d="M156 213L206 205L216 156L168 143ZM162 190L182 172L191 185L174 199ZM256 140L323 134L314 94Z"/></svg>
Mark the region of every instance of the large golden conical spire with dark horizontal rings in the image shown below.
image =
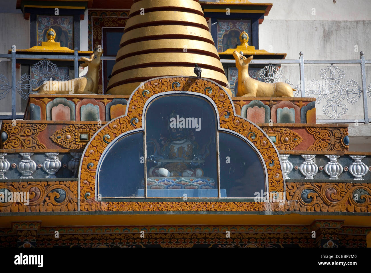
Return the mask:
<svg viewBox="0 0 371 273"><path fill-rule="evenodd" d="M196 76L226 86L227 78L200 4L194 0L140 0L130 9L108 94L131 94L162 76Z"/></svg>

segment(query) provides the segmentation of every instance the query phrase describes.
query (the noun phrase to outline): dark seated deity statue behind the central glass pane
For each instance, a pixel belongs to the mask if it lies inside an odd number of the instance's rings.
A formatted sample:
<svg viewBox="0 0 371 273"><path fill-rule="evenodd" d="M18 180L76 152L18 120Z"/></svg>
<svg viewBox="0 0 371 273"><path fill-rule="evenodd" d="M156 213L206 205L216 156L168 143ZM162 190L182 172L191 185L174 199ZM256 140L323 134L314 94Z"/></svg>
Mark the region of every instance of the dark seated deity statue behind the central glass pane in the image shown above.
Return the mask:
<svg viewBox="0 0 371 273"><path fill-rule="evenodd" d="M148 157L154 166L150 168L148 175L152 177L201 177L204 176L200 164L210 154L209 143L198 150L198 144L191 136L188 124L171 122L177 114L173 113L168 118L168 136L170 139L162 138L161 145L154 139L148 145L154 146L154 155ZM179 117L179 116L178 116ZM181 118L177 118L177 121ZM200 152L200 153L198 153Z"/></svg>

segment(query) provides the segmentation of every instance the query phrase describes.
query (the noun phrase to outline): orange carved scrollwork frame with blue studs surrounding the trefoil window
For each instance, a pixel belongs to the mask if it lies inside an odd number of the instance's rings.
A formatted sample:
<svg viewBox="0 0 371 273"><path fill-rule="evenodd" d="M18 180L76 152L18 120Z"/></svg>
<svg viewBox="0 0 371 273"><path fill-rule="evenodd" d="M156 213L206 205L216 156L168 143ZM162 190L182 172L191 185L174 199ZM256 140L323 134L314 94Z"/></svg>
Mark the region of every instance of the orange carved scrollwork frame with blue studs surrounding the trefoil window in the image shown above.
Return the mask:
<svg viewBox="0 0 371 273"><path fill-rule="evenodd" d="M221 131L240 136L258 151L266 168L269 192L284 192L284 179L278 152L269 137L255 124L236 116L226 91L218 84L197 78L162 77L151 79L131 95L126 115L115 118L102 127L86 145L79 173L79 198L81 211L264 211L264 202L102 202L97 196L96 175L99 159L118 137L144 129L144 111L148 104L164 92L194 94L208 98L217 112L217 127ZM188 93L189 92L189 93ZM215 201L215 200L214 200ZM193 204L193 205L192 205ZM232 208L231 208L232 206Z"/></svg>

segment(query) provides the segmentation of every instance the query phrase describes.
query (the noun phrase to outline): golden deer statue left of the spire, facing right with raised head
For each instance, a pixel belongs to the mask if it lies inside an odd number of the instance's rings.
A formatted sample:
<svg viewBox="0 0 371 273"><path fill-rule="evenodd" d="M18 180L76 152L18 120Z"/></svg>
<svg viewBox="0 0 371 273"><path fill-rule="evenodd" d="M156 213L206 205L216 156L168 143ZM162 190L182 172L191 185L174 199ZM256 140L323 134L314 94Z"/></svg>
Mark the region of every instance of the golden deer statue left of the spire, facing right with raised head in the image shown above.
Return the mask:
<svg viewBox="0 0 371 273"><path fill-rule="evenodd" d="M94 49L90 59L81 57L85 61L81 66L88 66L86 75L69 81L46 81L32 91L41 94L98 94L98 69L102 53L99 47Z"/></svg>

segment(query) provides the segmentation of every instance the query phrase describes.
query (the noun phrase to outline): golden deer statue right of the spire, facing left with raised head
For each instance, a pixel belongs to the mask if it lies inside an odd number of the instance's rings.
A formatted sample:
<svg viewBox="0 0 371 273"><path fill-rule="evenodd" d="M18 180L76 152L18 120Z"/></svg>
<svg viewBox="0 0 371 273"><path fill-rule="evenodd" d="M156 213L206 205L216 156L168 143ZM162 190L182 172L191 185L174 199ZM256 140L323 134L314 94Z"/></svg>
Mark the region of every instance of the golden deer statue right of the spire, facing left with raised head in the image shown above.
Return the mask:
<svg viewBox="0 0 371 273"><path fill-rule="evenodd" d="M273 84L252 79L249 76L249 62L253 56L246 58L237 51L233 52L238 69L237 97L293 97L293 89L284 82Z"/></svg>

